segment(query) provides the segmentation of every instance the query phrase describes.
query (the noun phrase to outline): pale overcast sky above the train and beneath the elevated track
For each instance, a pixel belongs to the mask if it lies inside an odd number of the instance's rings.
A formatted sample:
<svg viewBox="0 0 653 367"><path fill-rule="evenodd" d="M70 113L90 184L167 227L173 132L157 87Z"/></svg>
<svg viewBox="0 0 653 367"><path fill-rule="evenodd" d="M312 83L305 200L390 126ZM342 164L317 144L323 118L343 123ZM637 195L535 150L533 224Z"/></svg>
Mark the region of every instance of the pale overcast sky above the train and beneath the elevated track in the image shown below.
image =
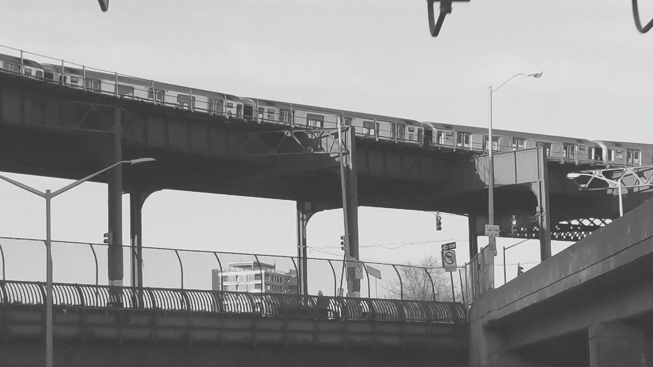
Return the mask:
<svg viewBox="0 0 653 367"><path fill-rule="evenodd" d="M653 132L653 33L637 32L628 1L454 3L438 38L428 32L423 0L112 0L107 13L95 0L5 3L0 44L161 82L485 127L488 86L543 71L494 94L494 127L645 143ZM641 5L646 23L653 5ZM66 183L12 177L39 189ZM43 238L42 201L0 183L0 236ZM53 215L54 238L101 242L106 185L57 197ZM447 216L443 227L434 231L430 214L362 208L361 246L399 247L363 247L360 256L415 262L438 255L434 241L449 238L466 249L466 218ZM313 217L311 256L340 254L341 234L340 211ZM144 208L144 244L294 255L295 203L155 193ZM511 249L507 262L537 260L535 245Z"/></svg>

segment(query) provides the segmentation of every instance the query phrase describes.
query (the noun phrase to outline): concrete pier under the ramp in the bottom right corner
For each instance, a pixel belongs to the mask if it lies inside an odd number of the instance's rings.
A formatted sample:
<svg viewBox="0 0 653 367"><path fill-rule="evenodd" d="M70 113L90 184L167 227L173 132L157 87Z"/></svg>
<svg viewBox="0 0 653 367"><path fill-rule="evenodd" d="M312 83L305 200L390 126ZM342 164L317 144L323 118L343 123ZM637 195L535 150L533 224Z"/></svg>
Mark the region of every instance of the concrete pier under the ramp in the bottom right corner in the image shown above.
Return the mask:
<svg viewBox="0 0 653 367"><path fill-rule="evenodd" d="M653 337L611 321L588 328L590 367L653 366Z"/></svg>

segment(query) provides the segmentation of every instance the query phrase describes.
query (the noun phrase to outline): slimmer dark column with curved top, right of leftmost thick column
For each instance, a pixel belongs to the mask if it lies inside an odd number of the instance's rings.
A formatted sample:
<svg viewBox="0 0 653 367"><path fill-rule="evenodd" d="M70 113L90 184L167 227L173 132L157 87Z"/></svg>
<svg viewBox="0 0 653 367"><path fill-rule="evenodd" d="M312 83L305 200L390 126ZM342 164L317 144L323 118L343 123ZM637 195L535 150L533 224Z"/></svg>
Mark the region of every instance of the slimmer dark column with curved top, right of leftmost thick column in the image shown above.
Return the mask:
<svg viewBox="0 0 653 367"><path fill-rule="evenodd" d="M142 209L145 199L152 191L134 191L129 193L129 229L131 233L131 286L133 287L133 304L143 306L143 226Z"/></svg>

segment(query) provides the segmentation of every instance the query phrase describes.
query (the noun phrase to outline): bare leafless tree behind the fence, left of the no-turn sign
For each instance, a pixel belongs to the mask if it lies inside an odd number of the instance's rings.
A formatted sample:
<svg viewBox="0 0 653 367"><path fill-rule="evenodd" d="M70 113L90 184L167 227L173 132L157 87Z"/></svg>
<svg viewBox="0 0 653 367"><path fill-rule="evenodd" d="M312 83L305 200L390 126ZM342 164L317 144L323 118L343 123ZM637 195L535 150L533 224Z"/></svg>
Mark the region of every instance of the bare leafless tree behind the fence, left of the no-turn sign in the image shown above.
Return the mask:
<svg viewBox="0 0 653 367"><path fill-rule="evenodd" d="M424 256L418 263L397 266L401 282L391 281L386 291L392 298L400 298L402 286L404 299L451 301L451 280L441 268L438 257Z"/></svg>

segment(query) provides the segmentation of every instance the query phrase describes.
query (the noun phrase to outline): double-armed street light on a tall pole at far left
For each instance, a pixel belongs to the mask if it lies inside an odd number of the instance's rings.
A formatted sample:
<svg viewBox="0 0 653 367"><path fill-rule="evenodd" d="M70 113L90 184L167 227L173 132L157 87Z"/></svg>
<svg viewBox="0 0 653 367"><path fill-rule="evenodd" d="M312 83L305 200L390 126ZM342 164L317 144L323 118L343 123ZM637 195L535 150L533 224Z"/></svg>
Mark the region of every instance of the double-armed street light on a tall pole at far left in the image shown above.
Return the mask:
<svg viewBox="0 0 653 367"><path fill-rule="evenodd" d="M61 187L61 189L58 189L57 191L54 191L54 193L50 190L46 190L45 192L39 191L37 189L34 189L33 187L29 187L25 185L24 183L18 182L16 180L12 180L11 178L5 177L0 175L0 178L2 180L7 181L8 183L12 183L21 189L24 189L26 191L29 191L30 193L33 193L35 195L39 195L40 197L45 199L45 215L46 215L46 300L45 300L45 363L46 367L52 367L52 238L50 236L50 200L52 198L56 197L59 194L65 193L66 191L72 189L73 187L76 187L80 183L86 182L90 180L91 178L106 172L110 170L111 168L114 168L118 165L122 165L125 163L129 163L131 165L136 165L138 163L146 163L146 162L153 162L156 161L154 158L138 158L138 159L132 159L131 161L119 161L117 163L114 163L113 165L110 165L109 167L106 167L102 170L99 170L93 174L89 174L89 176L86 176L84 178L80 178L80 180L77 180L70 185Z"/></svg>

